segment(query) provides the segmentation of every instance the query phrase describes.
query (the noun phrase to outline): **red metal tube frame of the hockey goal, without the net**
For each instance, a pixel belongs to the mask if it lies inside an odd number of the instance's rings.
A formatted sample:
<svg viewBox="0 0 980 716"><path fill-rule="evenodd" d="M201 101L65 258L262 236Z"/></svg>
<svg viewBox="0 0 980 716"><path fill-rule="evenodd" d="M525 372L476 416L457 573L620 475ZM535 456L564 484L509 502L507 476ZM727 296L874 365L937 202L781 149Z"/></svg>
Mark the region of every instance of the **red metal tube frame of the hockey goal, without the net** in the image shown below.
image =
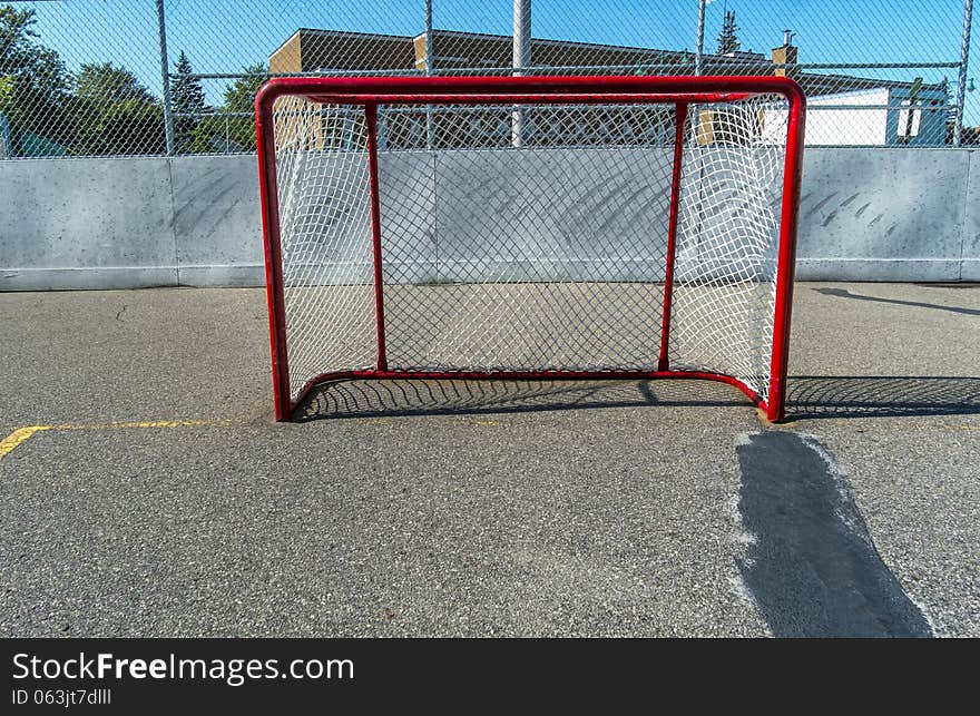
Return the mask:
<svg viewBox="0 0 980 716"><path fill-rule="evenodd" d="M373 369L323 373L310 380L295 400L290 392L286 349L286 314L280 236L273 105L283 96L302 96L315 102L362 106L367 122L369 192L373 248L376 364ZM683 133L688 106L698 102L738 101L756 95L782 95L788 101L783 197L776 265L776 296L772 362L767 400L732 375L704 371L670 370L667 356L672 288L677 235L677 207L682 169ZM382 282L381 215L378 179L379 105L494 105L546 104L673 104L676 133L672 200L668 218L661 345L656 371L409 371L389 370L385 349L384 285ZM266 82L255 99L258 178L265 242L266 291L272 344L275 418L292 419L293 411L317 384L331 380L596 380L596 379L700 379L734 385L772 422L785 419L790 320L796 257L800 183L803 169L803 131L806 98L786 77L337 77L276 78Z"/></svg>

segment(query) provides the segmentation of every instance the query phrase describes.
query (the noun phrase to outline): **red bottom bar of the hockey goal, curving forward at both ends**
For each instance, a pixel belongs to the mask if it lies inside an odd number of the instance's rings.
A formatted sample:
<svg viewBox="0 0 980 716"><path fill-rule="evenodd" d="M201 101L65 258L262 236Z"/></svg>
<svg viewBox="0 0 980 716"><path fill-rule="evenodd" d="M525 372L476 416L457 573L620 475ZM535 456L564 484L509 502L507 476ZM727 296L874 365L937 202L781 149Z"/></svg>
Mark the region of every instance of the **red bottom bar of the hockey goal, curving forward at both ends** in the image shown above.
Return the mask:
<svg viewBox="0 0 980 716"><path fill-rule="evenodd" d="M332 381L364 380L418 380L418 381L621 381L621 380L698 380L715 381L733 385L773 423L785 419L782 405L770 405L744 382L732 375L704 371L381 371L363 369L322 373L306 382L296 400L276 405L276 420L293 419L294 410L301 405L318 385Z"/></svg>

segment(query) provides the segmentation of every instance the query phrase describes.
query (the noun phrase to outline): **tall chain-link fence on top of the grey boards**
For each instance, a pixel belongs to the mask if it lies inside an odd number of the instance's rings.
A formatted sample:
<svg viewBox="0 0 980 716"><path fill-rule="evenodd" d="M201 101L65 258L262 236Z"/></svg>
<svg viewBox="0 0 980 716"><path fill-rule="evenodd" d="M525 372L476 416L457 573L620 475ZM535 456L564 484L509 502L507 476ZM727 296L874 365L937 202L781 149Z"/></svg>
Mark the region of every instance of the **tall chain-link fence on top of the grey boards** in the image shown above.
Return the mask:
<svg viewBox="0 0 980 716"><path fill-rule="evenodd" d="M972 0L0 0L0 158L248 153L265 79L351 73L788 75L808 145L980 145L978 22Z"/></svg>

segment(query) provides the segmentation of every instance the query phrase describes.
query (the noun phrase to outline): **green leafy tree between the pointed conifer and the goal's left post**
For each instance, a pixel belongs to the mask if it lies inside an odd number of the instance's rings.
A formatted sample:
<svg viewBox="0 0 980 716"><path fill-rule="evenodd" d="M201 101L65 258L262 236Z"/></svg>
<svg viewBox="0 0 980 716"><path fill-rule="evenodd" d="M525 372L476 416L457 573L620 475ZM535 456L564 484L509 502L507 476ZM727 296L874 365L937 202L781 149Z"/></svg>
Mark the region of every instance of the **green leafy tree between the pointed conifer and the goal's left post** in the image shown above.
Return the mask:
<svg viewBox="0 0 980 716"><path fill-rule="evenodd" d="M255 95L268 77L265 65L243 68L243 76L225 89L224 104L194 133L193 151L255 151Z"/></svg>

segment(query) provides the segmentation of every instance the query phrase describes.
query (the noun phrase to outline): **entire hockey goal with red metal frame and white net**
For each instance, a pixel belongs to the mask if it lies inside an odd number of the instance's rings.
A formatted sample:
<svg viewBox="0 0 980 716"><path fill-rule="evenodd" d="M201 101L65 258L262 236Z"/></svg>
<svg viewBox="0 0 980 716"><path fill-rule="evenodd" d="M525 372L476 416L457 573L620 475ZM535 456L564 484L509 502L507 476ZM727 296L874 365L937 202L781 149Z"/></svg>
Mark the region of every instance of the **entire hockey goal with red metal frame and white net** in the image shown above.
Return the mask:
<svg viewBox="0 0 980 716"><path fill-rule="evenodd" d="M256 99L275 411L344 379L709 379L784 416L782 77L284 78Z"/></svg>

